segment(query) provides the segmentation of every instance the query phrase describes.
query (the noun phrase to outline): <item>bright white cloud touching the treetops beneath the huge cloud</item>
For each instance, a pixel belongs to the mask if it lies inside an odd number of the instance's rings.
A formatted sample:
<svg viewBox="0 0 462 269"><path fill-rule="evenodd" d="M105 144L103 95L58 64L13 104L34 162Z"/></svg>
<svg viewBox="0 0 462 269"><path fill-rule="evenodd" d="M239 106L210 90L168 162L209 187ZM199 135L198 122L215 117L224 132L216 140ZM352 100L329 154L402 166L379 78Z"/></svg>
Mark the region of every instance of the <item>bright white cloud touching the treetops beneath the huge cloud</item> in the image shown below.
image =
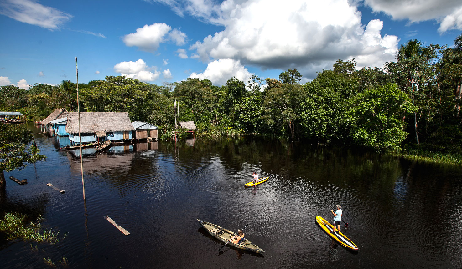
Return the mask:
<svg viewBox="0 0 462 269"><path fill-rule="evenodd" d="M213 84L224 85L232 77L247 81L253 75L255 73L249 72L238 60L219 59L209 63L204 72L199 74L193 72L189 78L208 78Z"/></svg>

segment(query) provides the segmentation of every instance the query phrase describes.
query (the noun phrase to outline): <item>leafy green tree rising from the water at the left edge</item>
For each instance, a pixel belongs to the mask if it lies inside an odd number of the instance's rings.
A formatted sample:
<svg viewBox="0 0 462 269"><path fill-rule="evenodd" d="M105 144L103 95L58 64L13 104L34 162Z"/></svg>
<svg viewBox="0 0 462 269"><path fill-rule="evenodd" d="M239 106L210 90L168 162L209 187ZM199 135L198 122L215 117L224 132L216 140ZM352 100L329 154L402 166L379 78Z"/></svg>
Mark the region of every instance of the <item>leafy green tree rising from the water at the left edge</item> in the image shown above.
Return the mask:
<svg viewBox="0 0 462 269"><path fill-rule="evenodd" d="M30 129L0 123L0 188L5 188L4 171L21 170L30 163L45 160L46 156L38 154L40 150L36 146L28 147L31 141Z"/></svg>

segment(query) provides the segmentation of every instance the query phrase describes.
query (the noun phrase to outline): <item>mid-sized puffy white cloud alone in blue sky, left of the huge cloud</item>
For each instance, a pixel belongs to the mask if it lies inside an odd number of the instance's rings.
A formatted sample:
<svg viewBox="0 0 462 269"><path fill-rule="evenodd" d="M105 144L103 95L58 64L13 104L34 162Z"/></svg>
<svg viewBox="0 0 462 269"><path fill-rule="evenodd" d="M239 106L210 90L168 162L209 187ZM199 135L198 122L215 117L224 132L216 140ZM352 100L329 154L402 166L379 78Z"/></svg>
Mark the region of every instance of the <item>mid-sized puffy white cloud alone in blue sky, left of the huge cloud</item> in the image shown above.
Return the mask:
<svg viewBox="0 0 462 269"><path fill-rule="evenodd" d="M128 47L138 47L146 52L155 52L162 42L172 41L177 45L183 45L186 34L174 29L164 23L145 25L136 29L136 33L131 33L123 37L123 42ZM170 33L169 33L170 32Z"/></svg>

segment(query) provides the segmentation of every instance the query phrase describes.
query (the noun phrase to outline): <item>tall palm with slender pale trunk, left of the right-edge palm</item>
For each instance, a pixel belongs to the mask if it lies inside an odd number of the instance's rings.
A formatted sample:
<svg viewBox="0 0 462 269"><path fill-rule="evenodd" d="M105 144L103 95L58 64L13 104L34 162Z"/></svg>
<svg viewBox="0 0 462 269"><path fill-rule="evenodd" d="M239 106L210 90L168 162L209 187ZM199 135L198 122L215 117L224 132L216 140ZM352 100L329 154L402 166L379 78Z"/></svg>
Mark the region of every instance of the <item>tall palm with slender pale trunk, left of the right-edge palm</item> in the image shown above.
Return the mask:
<svg viewBox="0 0 462 269"><path fill-rule="evenodd" d="M401 45L395 53L396 62L387 62L385 69L388 72L400 72L405 74L404 78L401 78L401 83L406 88L411 87L412 89L412 104L415 105L415 91L419 90L420 74L419 69L423 63L428 63L433 58L432 48L424 47L423 43L417 39L411 39L406 44ZM404 80L404 81L403 81ZM415 91L414 91L415 85ZM415 137L417 138L417 144L420 144L419 135L417 132L417 112L414 111L414 130Z"/></svg>

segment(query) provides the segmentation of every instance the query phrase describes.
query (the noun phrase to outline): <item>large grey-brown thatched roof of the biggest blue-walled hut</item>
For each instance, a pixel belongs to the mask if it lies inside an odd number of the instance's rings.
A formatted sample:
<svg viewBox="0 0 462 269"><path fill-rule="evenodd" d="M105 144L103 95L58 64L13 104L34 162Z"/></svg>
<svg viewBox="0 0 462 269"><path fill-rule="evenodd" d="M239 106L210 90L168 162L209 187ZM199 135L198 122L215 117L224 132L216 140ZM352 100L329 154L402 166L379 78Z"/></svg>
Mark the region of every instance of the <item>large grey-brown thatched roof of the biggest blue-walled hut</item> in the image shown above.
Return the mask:
<svg viewBox="0 0 462 269"><path fill-rule="evenodd" d="M135 130L127 112L80 112L80 129L82 133L96 133L97 137ZM79 133L79 113L67 114L66 132Z"/></svg>

